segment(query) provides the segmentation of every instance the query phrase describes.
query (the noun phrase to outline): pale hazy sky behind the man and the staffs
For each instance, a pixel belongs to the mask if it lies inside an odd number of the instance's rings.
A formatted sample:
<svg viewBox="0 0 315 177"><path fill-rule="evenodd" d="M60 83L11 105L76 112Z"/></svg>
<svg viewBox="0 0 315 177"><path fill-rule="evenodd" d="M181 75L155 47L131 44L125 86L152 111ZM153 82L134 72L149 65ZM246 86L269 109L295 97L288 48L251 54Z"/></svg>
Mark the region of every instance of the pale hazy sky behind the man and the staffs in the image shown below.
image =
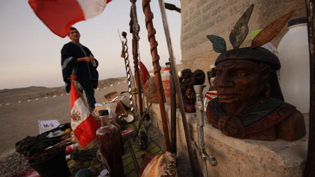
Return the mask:
<svg viewBox="0 0 315 177"><path fill-rule="evenodd" d="M164 1L181 7L180 0ZM140 60L150 71L153 69L152 57L141 3L142 0L136 2ZM159 61L164 66L169 54L158 0L152 0L150 5L157 31ZM112 0L99 16L73 25L80 31L80 43L88 47L99 61L99 79L126 76L117 29L120 33L127 32L130 67L133 70L132 34L128 25L130 6L130 0ZM166 14L176 63L181 63L181 15L170 10L166 10ZM64 86L60 51L70 39L51 32L32 11L28 0L0 0L0 22L0 89Z"/></svg>

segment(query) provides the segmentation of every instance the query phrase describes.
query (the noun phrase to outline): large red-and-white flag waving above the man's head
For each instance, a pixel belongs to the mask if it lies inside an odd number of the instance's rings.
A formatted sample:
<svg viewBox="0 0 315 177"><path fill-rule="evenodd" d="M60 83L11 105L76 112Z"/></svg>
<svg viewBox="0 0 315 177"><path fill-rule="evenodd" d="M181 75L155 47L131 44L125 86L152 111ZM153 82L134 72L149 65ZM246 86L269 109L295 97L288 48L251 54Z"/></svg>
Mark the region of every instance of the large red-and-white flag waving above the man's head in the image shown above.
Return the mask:
<svg viewBox="0 0 315 177"><path fill-rule="evenodd" d="M112 0L29 0L38 18L56 35L65 37L70 27L103 12Z"/></svg>

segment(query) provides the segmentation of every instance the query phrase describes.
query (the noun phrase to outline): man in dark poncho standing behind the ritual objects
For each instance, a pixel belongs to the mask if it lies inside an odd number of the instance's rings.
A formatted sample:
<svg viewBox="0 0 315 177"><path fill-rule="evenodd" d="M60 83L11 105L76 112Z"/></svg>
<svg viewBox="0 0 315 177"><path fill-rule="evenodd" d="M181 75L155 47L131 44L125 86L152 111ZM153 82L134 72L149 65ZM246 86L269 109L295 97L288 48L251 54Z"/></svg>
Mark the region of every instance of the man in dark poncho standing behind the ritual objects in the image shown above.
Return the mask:
<svg viewBox="0 0 315 177"><path fill-rule="evenodd" d="M92 52L80 43L80 33L71 27L68 37L70 42L63 45L61 50L61 65L63 70L63 81L66 92L70 91L71 75L76 76L76 80L84 89L89 107L95 108L94 89L98 84L98 72L96 70L98 61Z"/></svg>

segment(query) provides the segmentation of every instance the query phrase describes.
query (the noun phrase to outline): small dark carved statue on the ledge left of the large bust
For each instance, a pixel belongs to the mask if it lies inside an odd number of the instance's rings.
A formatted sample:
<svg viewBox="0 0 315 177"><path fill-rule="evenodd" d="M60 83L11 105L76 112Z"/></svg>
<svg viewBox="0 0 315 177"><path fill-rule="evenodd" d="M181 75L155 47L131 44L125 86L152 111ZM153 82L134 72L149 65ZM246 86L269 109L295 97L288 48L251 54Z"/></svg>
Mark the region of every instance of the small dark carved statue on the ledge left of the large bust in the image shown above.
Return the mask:
<svg viewBox="0 0 315 177"><path fill-rule="evenodd" d="M205 73L200 69L195 70L195 72L191 72L190 69L184 69L182 71L182 76L179 78L179 82L181 85L181 92L186 113L196 112L196 93L193 86L203 85L205 78Z"/></svg>

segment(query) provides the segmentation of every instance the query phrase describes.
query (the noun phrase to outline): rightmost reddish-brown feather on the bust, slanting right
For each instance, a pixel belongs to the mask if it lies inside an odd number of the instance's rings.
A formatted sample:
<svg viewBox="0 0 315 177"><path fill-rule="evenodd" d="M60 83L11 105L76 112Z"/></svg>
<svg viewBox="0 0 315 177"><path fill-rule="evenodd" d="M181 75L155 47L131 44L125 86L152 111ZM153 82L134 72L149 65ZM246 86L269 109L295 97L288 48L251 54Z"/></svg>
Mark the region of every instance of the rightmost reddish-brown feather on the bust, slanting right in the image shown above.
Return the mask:
<svg viewBox="0 0 315 177"><path fill-rule="evenodd" d="M267 42L271 41L277 34L284 28L284 25L289 20L294 10L275 20L268 26L266 26L262 31L260 31L256 37L252 39L251 49L262 46Z"/></svg>

